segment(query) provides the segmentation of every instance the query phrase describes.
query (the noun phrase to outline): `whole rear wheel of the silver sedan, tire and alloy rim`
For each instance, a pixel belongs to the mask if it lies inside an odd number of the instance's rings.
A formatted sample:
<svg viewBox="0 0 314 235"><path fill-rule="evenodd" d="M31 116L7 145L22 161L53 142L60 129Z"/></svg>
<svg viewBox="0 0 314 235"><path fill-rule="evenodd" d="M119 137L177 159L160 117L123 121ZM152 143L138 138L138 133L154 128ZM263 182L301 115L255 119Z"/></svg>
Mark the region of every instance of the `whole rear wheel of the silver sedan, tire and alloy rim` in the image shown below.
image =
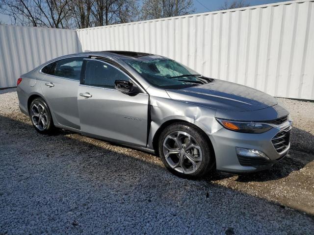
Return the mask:
<svg viewBox="0 0 314 235"><path fill-rule="evenodd" d="M51 112L47 103L42 98L35 98L29 106L31 123L36 131L42 134L49 134L53 129Z"/></svg>

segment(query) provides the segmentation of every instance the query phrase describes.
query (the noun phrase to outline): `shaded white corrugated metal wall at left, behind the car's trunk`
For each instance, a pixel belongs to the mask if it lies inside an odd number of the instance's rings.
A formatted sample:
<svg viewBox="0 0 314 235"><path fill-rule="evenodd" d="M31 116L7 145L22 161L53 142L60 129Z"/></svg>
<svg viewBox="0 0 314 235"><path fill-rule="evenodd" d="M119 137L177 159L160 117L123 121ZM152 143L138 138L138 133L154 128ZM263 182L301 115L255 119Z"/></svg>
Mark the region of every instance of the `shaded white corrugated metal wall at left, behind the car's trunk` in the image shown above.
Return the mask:
<svg viewBox="0 0 314 235"><path fill-rule="evenodd" d="M0 25L0 88L52 58L78 52L75 30Z"/></svg>

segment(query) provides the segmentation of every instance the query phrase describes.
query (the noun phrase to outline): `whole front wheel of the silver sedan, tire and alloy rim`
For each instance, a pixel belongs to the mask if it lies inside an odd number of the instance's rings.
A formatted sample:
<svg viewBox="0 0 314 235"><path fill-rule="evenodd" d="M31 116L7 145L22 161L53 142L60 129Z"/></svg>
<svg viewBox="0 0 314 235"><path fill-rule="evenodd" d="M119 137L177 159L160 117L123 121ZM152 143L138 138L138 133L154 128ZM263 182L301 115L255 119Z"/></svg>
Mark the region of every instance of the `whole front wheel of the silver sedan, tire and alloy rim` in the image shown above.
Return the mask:
<svg viewBox="0 0 314 235"><path fill-rule="evenodd" d="M163 164L180 177L201 177L214 167L215 157L208 137L192 124L180 122L166 127L158 146Z"/></svg>

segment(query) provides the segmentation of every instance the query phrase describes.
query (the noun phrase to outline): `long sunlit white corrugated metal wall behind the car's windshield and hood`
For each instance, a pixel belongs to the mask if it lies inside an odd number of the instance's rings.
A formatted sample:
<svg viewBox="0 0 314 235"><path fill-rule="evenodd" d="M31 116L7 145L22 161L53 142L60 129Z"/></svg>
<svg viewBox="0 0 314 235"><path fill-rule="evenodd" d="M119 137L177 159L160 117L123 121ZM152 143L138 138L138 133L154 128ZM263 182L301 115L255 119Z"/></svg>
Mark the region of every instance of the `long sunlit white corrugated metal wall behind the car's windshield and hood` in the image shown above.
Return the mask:
<svg viewBox="0 0 314 235"><path fill-rule="evenodd" d="M79 29L78 38L83 50L156 53L209 77L314 99L313 0Z"/></svg>

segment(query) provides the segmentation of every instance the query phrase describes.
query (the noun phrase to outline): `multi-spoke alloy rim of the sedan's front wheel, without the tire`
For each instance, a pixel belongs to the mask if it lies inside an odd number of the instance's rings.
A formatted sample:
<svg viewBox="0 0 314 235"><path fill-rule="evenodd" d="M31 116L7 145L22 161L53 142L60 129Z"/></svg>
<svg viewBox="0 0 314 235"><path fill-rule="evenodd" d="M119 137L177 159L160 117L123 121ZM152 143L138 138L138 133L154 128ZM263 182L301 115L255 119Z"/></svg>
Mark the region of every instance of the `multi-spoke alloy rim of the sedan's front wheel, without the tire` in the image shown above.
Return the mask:
<svg viewBox="0 0 314 235"><path fill-rule="evenodd" d="M194 173L202 163L200 145L186 132L175 131L167 135L162 149L170 167L183 174Z"/></svg>

